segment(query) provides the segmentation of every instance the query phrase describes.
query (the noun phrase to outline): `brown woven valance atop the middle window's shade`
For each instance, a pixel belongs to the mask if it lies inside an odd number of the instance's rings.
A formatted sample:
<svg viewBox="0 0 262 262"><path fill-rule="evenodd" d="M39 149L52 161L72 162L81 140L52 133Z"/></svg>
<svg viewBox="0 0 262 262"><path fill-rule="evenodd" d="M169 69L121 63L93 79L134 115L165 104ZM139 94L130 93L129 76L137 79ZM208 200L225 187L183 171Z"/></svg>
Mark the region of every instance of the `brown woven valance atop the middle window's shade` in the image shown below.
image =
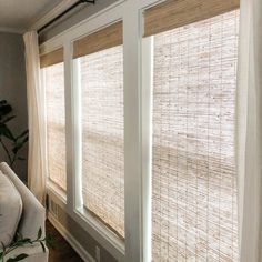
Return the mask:
<svg viewBox="0 0 262 262"><path fill-rule="evenodd" d="M73 58L99 52L122 44L122 21L87 36L73 43Z"/></svg>

